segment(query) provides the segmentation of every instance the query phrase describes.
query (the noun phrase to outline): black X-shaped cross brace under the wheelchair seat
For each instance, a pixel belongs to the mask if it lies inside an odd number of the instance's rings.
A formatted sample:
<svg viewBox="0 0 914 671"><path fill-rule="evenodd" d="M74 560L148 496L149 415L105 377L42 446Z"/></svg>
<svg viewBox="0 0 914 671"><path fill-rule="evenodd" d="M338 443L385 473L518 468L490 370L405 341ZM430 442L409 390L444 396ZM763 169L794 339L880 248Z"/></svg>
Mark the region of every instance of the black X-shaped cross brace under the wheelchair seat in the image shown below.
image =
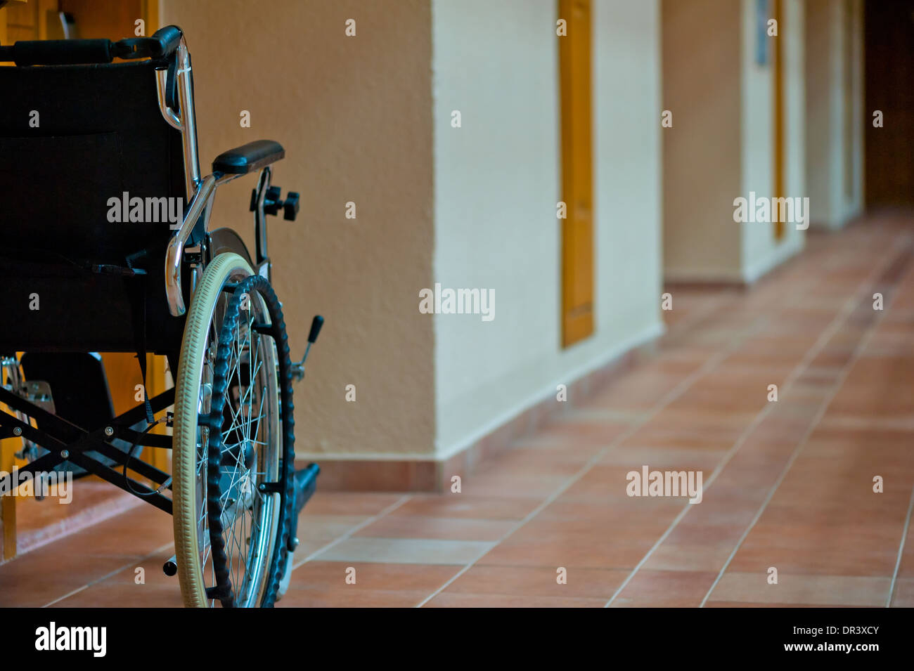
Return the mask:
<svg viewBox="0 0 914 671"><path fill-rule="evenodd" d="M125 477L120 471L86 454L87 452L98 452L102 456L115 461L118 466L127 465L133 472L152 480L156 486L162 486L168 482L170 476L167 473L147 464L142 459L127 455L105 440L106 438L122 438L131 443L135 441L137 446L171 448L171 436L141 434L130 428L131 425L143 420L143 417L145 417L145 405L137 405L126 413L114 417L105 426L87 431L62 417L58 417L56 414L48 413L44 408L3 387L0 387L0 403L26 414L43 427L42 429L37 429L13 414L0 412L0 438L22 436L48 450L47 455L40 456L35 461L27 464L27 466L19 468L20 473L31 473L34 476L37 472L48 470L58 464L69 461L76 466L84 468L89 473L107 480L112 485L130 492L133 496L142 498L156 508L165 510L169 515L172 514L172 501L170 498L163 496L154 489L148 488L131 477ZM165 408L174 403L174 388L149 399L149 404L152 406L154 413L165 410Z"/></svg>

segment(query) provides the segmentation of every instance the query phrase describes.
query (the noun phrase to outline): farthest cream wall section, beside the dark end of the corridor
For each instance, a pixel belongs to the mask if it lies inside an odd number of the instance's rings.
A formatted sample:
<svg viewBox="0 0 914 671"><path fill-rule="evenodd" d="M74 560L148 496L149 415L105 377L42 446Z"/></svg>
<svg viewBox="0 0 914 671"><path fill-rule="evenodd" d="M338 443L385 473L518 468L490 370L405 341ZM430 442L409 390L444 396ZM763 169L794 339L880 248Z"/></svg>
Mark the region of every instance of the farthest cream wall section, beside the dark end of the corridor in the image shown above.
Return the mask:
<svg viewBox="0 0 914 671"><path fill-rule="evenodd" d="M844 0L806 0L806 180L813 226L840 228L863 209L863 5L851 0L851 43L845 44ZM845 138L845 49L850 49L852 136ZM845 167L853 171L845 193Z"/></svg>

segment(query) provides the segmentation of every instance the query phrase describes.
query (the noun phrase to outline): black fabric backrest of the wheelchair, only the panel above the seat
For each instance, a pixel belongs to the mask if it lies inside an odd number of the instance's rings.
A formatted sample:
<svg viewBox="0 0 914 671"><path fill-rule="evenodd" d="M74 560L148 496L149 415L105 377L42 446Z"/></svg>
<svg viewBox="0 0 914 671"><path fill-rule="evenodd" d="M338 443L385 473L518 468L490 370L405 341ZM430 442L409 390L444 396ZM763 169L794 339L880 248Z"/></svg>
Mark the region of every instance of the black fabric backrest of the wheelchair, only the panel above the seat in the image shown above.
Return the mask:
<svg viewBox="0 0 914 671"><path fill-rule="evenodd" d="M5 254L124 265L164 246L167 221L109 221L125 193L185 197L181 134L159 111L152 62L0 68L0 90Z"/></svg>

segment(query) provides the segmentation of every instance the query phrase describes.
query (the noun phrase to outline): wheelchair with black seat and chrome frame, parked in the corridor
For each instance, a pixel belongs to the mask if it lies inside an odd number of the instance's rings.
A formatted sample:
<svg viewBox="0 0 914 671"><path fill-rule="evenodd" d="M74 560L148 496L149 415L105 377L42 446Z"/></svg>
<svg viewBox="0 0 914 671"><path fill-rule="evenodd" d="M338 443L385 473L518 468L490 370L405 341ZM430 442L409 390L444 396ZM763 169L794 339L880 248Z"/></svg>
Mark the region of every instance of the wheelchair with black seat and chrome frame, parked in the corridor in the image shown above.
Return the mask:
<svg viewBox="0 0 914 671"><path fill-rule="evenodd" d="M282 145L250 142L201 176L176 26L20 41L0 62L13 64L0 67L0 437L23 441L20 475L93 474L170 513L165 572L186 606L271 607L319 473L294 470L292 383L323 323L292 362L265 220L299 208L271 185ZM209 227L218 187L251 173L253 256ZM136 354L142 401L128 412L114 416L97 352ZM151 398L147 353L175 382ZM143 447L171 450L172 472Z"/></svg>

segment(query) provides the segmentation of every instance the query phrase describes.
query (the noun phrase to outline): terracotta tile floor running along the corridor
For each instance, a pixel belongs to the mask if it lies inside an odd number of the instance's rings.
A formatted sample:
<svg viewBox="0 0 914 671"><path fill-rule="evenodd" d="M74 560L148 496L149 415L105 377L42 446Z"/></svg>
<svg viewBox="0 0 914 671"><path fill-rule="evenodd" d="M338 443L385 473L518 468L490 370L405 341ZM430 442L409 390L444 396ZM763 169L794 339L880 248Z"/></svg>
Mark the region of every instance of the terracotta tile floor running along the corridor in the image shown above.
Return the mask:
<svg viewBox="0 0 914 671"><path fill-rule="evenodd" d="M912 232L870 219L749 290L670 288L654 355L461 494L319 489L280 605L914 606ZM630 498L643 465L702 471L701 503ZM179 605L170 524L132 508L38 547L0 603Z"/></svg>

